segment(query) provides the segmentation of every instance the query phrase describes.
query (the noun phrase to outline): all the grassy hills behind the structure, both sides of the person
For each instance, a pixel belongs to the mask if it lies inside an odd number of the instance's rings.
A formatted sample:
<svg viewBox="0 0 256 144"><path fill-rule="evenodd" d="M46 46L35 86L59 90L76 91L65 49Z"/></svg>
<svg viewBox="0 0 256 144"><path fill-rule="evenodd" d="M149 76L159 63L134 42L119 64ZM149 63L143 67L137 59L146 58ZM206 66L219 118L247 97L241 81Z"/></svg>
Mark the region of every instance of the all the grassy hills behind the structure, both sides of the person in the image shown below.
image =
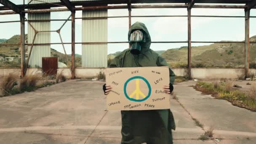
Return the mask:
<svg viewBox="0 0 256 144"><path fill-rule="evenodd" d="M19 35L14 35L1 44L19 43ZM27 41L27 35L25 36ZM256 42L256 36L250 38ZM27 51L27 47L26 47ZM156 51L171 67L187 67L187 46L171 48L167 51ZM108 55L108 64L120 51ZM59 61L67 64L66 56L51 48L51 56L59 57ZM4 61L5 57L15 57L14 61ZM20 66L19 45L0 46L0 67ZM68 55L71 62L71 55ZM81 67L81 55L75 54L76 67ZM67 64L68 65L68 64ZM244 44L242 43L213 43L192 47L192 67L244 67ZM250 67L256 67L256 44L250 44Z"/></svg>

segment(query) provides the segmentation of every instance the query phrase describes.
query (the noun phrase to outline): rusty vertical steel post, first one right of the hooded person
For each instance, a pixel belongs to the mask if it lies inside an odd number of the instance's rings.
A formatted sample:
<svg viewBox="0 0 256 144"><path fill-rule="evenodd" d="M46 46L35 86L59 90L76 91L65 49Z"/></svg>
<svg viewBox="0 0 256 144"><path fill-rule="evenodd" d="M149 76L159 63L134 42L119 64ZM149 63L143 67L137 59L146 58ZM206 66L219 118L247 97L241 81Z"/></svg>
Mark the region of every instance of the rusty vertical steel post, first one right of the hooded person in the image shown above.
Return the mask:
<svg viewBox="0 0 256 144"><path fill-rule="evenodd" d="M191 79L191 9L187 9L187 39L188 39L188 49L187 49L187 66L188 66L188 76Z"/></svg>

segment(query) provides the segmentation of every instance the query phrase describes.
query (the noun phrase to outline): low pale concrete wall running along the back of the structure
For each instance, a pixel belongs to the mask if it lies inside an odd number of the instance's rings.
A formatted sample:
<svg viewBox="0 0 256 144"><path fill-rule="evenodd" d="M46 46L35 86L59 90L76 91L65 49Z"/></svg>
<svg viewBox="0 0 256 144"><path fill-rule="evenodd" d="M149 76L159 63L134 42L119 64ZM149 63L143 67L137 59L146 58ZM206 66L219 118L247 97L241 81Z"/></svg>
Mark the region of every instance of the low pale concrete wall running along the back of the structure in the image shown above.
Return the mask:
<svg viewBox="0 0 256 144"><path fill-rule="evenodd" d="M75 77L77 78L92 78L97 77L99 72L104 72L105 68L76 68ZM187 68L171 68L176 76L186 76L188 73ZM71 72L69 68L59 68L57 74L61 73L67 78L71 78ZM0 77L9 75L9 73L20 76L21 69L17 68L0 68ZM27 74L42 73L42 68L28 68ZM250 73L256 74L256 69L250 69ZM245 72L243 68L192 68L192 78L196 79L220 79L220 78L231 78L236 79L244 77Z"/></svg>

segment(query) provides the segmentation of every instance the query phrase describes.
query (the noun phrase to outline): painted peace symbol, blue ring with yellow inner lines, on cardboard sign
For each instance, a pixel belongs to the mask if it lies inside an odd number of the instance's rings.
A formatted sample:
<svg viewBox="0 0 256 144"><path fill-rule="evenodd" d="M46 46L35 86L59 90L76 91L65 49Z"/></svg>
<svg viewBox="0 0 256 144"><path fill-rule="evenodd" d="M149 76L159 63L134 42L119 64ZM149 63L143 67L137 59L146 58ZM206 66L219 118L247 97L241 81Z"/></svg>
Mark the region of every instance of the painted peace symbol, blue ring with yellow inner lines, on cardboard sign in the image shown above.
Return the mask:
<svg viewBox="0 0 256 144"><path fill-rule="evenodd" d="M149 89L149 91L147 93L147 96L139 88L140 80L143 80L147 84L147 87ZM127 93L127 85L128 85L128 83L134 83L134 81L135 81L136 89L130 95L128 95L128 93ZM127 99L129 99L130 101L145 101L151 95L151 86L150 86L149 82L147 81L147 79L145 79L144 77L135 76L135 77L129 78L125 82L123 91L125 93L125 97Z"/></svg>

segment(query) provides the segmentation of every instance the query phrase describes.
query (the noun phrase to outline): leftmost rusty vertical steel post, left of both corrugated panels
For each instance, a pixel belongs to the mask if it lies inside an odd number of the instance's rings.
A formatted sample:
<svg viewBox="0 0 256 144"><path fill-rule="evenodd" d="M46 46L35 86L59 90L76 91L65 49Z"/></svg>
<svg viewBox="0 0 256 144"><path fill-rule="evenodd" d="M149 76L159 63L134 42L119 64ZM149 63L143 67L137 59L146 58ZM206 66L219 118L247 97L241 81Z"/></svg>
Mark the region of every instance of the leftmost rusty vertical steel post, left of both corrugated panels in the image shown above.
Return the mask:
<svg viewBox="0 0 256 144"><path fill-rule="evenodd" d="M21 36L20 36L20 52L21 52L21 78L25 76L26 58L25 58L25 13L20 14Z"/></svg>

